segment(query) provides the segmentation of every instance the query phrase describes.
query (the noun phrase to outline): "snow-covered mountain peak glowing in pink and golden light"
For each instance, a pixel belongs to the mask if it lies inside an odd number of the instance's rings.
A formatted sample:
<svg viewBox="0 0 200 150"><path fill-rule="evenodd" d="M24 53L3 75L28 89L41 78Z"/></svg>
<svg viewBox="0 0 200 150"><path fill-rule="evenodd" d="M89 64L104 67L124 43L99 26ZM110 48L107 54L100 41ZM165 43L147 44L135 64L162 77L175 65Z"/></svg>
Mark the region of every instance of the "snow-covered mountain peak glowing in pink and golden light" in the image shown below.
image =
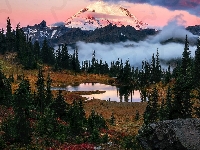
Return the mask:
<svg viewBox="0 0 200 150"><path fill-rule="evenodd" d="M81 28L82 30L94 30L109 24L118 27L130 25L137 30L145 29L148 25L139 21L128 9L103 1L90 4L65 22L66 27Z"/></svg>

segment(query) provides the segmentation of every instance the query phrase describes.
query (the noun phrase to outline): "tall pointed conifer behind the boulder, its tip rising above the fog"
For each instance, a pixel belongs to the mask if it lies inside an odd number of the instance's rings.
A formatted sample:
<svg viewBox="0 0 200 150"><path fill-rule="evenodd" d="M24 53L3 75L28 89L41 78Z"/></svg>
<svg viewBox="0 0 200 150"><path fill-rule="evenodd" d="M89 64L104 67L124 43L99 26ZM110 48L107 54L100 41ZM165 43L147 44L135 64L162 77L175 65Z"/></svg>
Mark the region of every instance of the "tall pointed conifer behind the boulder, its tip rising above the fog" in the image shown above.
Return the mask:
<svg viewBox="0 0 200 150"><path fill-rule="evenodd" d="M174 100L172 105L172 118L190 118L192 117L193 104L191 102L192 83L192 66L187 36L185 48L183 51L182 64L176 82L173 88Z"/></svg>

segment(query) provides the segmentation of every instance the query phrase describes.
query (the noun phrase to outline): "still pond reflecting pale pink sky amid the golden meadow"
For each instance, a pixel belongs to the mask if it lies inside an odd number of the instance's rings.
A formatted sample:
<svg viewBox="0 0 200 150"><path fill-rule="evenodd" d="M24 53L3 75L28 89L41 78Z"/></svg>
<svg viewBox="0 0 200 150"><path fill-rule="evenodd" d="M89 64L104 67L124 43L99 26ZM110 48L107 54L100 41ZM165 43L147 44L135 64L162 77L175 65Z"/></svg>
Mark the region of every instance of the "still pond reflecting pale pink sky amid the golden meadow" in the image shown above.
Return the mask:
<svg viewBox="0 0 200 150"><path fill-rule="evenodd" d="M100 83L82 83L79 86L67 86L66 88L52 88L52 90L66 90L66 91L106 91L102 94L82 95L88 100L96 98L101 100L117 101L117 102L140 102L140 92L134 91L129 96L119 94L119 88L116 86L105 85ZM121 95L121 96L120 96Z"/></svg>

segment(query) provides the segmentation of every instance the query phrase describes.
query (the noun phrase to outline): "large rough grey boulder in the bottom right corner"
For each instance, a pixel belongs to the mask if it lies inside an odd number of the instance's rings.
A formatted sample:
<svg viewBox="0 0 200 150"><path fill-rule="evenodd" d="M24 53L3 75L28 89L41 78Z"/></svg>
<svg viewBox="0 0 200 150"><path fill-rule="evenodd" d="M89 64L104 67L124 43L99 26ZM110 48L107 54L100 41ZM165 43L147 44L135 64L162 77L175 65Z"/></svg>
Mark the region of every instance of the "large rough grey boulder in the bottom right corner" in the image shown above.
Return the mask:
<svg viewBox="0 0 200 150"><path fill-rule="evenodd" d="M137 140L147 150L200 150L200 119L155 122L143 126Z"/></svg>

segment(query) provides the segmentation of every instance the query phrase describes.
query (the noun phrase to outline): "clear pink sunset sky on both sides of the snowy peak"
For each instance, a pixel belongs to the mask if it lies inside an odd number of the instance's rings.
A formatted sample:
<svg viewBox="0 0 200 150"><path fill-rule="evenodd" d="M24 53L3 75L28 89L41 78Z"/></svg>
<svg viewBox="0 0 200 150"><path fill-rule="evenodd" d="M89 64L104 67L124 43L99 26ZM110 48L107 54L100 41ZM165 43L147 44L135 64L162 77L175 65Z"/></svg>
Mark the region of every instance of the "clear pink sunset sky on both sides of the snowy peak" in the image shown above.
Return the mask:
<svg viewBox="0 0 200 150"><path fill-rule="evenodd" d="M186 1L180 0L179 3L187 5L187 3L184 3ZM196 2L195 0L193 1ZM7 17L10 17L13 28L19 22L21 26L27 26L38 24L42 20L45 20L47 25L66 21L80 9L94 2L95 0L1 0L0 28L5 29ZM152 27L162 27L169 20L180 14L182 14L182 19L185 21L182 21L183 25L200 25L200 15L198 13L196 13L198 15L195 15L194 11L191 13L191 11L176 8L169 10L161 5L141 3L141 1L140 3L133 1L131 3L130 1L119 3L139 20L148 23Z"/></svg>

